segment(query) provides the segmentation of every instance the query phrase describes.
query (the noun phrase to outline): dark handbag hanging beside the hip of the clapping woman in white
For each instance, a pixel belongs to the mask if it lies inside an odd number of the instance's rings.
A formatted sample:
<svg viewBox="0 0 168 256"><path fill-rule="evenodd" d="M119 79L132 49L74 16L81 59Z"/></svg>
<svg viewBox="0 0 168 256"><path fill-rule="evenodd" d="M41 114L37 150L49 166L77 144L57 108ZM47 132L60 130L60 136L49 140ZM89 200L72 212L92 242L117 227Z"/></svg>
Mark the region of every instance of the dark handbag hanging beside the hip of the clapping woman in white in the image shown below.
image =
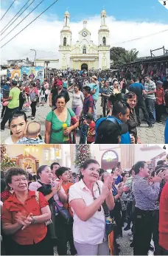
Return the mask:
<svg viewBox="0 0 168 256"><path fill-rule="evenodd" d="M97 187L99 189L98 183L97 183ZM99 195L100 195L100 189L99 189ZM108 206L105 201L102 203L102 208L105 212L105 233L106 235L110 235L111 232L114 229L116 229L116 224L114 223L113 218L111 218L110 212L108 210Z"/></svg>

